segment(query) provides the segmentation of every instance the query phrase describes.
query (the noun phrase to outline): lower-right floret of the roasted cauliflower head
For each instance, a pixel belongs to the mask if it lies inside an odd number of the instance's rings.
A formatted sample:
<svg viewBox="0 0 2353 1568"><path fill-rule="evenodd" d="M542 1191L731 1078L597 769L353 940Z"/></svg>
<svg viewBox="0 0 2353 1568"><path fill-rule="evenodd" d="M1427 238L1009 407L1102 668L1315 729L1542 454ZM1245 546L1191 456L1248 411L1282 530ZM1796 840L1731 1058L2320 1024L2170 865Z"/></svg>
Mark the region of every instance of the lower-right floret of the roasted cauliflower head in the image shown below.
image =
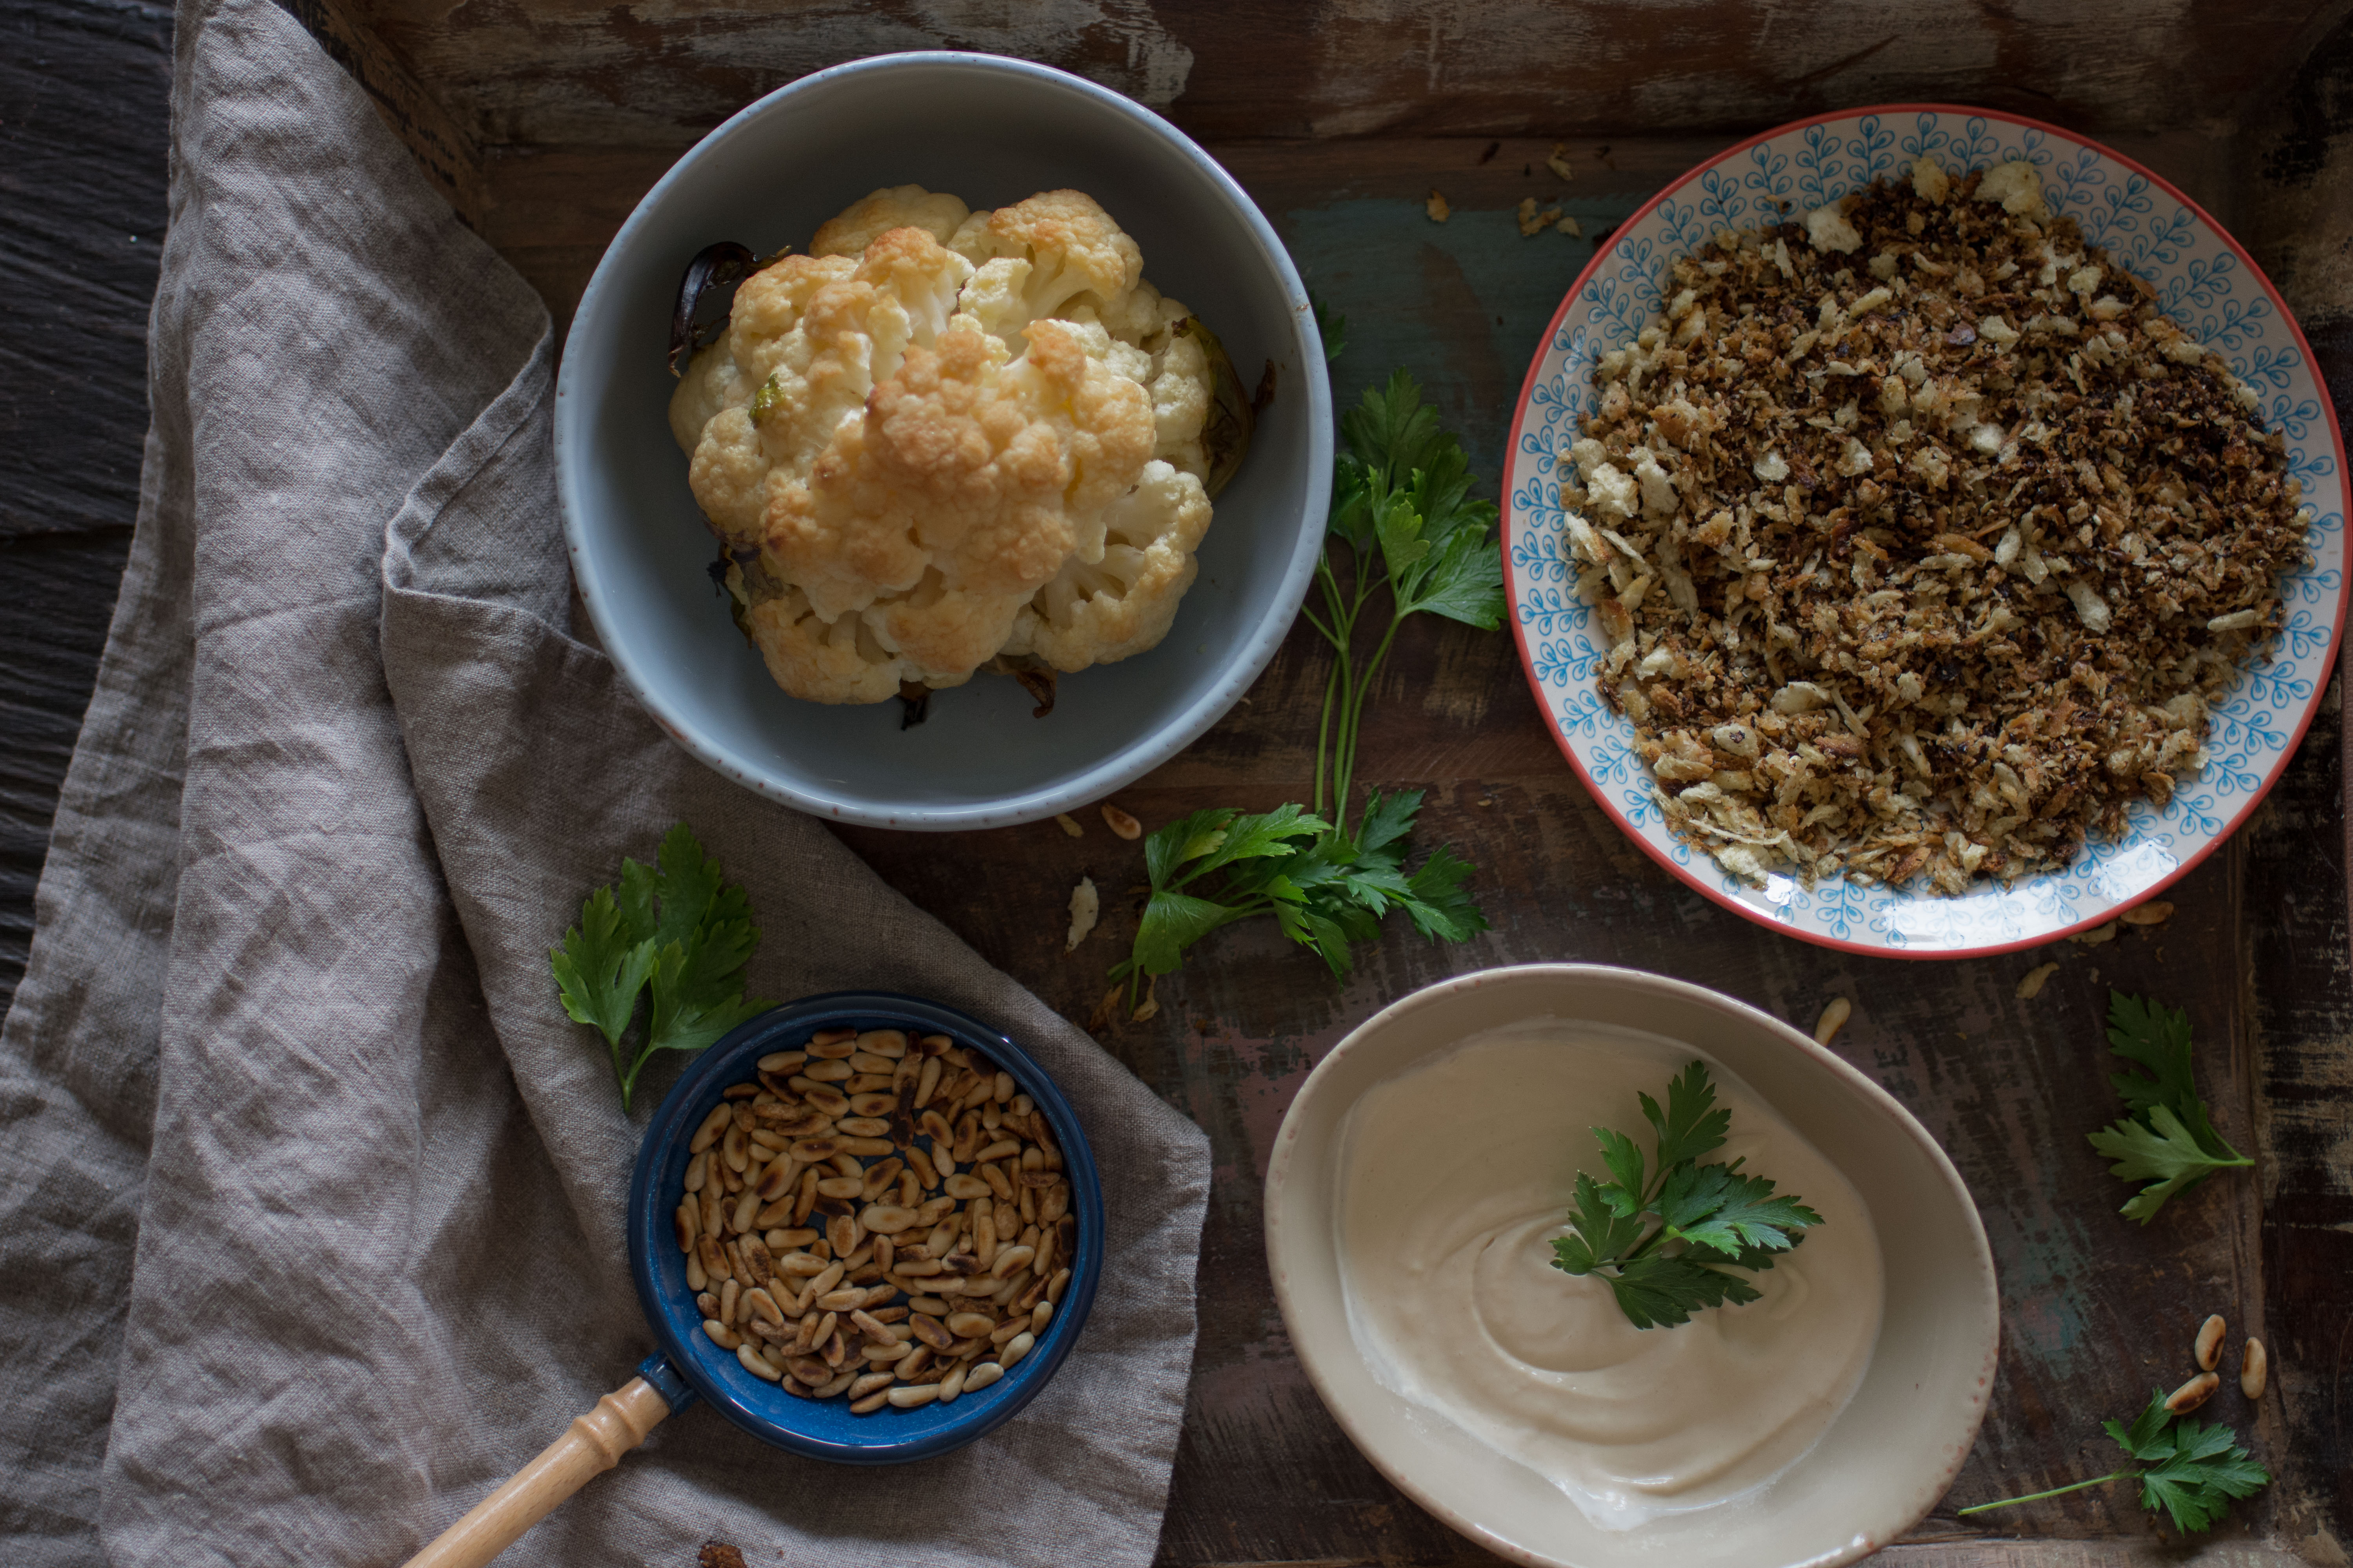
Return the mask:
<svg viewBox="0 0 2353 1568"><path fill-rule="evenodd" d="M1158 458L1146 463L1144 480L1106 512L1099 557L1071 557L1024 607L1005 651L1068 672L1160 646L1193 585L1193 550L1207 529L1200 477Z"/></svg>

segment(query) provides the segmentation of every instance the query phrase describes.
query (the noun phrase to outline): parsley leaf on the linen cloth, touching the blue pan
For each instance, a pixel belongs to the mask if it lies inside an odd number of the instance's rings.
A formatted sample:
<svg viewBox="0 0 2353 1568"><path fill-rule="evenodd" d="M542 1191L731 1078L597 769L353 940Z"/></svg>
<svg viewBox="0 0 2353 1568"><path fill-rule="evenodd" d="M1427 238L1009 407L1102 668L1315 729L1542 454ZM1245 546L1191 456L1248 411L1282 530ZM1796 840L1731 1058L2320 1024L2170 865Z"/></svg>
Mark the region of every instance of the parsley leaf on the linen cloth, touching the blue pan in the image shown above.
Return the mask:
<svg viewBox="0 0 2353 1568"><path fill-rule="evenodd" d="M659 870L624 856L619 893L588 893L581 924L565 931L548 964L565 1011L605 1037L621 1110L656 1051L701 1051L776 1006L744 997L744 966L758 943L751 898L720 877L720 863L685 823L661 839ZM647 1020L631 1037L645 990Z"/></svg>

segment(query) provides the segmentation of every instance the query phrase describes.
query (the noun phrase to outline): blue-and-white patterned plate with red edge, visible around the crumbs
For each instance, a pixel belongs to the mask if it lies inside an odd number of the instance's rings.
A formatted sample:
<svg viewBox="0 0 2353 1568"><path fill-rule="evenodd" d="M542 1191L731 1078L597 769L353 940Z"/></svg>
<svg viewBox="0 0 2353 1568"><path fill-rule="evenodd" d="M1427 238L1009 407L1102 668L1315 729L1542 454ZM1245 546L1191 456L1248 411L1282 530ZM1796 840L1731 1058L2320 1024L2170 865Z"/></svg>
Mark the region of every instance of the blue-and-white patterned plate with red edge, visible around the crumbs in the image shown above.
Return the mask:
<svg viewBox="0 0 2353 1568"><path fill-rule="evenodd" d="M2162 811L2146 802L2118 842L2089 839L2064 872L1960 898L1824 877L1751 886L1678 839L1633 750L1633 724L1595 684L1607 637L1579 599L1560 468L1593 400L1593 362L1659 315L1666 266L1725 228L1779 223L1897 174L1922 153L1962 172L2024 158L2052 212L2148 280L2158 303L2217 348L2287 440L2289 473L2318 520L2313 567L2287 576L2271 663L2245 670L2212 715L2207 766ZM1784 202L1788 209L1784 209ZM1800 120L1699 165L1635 212L1586 266L1527 367L1504 487L1504 576L1520 663L1553 738L1593 799L1668 872L1748 919L1847 952L1967 957L2097 926L2188 872L2238 827L2294 755L2327 689L2346 614L2346 456L2327 388L2287 303L2240 244L2186 195L2054 125L1977 108L1899 103Z"/></svg>

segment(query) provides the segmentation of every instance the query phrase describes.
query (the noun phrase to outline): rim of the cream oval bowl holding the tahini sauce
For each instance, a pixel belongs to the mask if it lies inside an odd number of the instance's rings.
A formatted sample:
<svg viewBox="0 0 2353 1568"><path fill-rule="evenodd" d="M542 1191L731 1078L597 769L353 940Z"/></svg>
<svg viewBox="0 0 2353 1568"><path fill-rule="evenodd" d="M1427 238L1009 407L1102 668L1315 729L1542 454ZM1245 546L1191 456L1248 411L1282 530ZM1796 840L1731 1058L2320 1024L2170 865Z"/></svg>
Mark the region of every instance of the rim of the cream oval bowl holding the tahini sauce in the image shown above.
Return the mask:
<svg viewBox="0 0 2353 1568"><path fill-rule="evenodd" d="M1348 1034L1344 1034L1341 1041L1332 1046L1332 1051L1327 1051L1320 1063L1315 1063L1315 1070L1308 1072L1306 1081L1299 1086L1299 1093L1292 1095L1289 1107L1285 1107L1282 1112L1282 1124L1275 1131L1275 1147L1271 1159L1266 1161L1266 1185L1264 1185L1264 1237L1266 1237L1266 1265L1268 1265L1266 1272L1273 1276L1275 1284L1275 1307L1282 1314L1285 1333L1289 1335L1292 1347L1299 1352L1299 1366L1306 1371L1308 1382L1315 1389L1315 1396L1322 1399L1325 1408L1332 1413L1332 1420L1339 1422L1341 1432L1348 1434L1348 1441L1355 1443L1358 1453L1372 1460L1374 1469L1388 1476L1388 1481L1398 1490L1402 1490L1417 1505L1435 1514L1452 1530L1466 1535L1468 1540L1475 1540L1480 1547L1499 1556L1506 1556L1515 1563L1525 1563L1527 1568L1584 1568L1572 1559L1544 1556L1529 1552L1518 1542L1504 1540L1494 1530L1482 1528L1478 1521L1468 1519L1461 1509L1457 1509L1447 1497L1433 1495L1421 1483L1419 1476L1395 1467L1391 1458L1379 1450L1377 1443L1367 1441L1353 1413L1346 1410L1341 1403L1337 1403L1332 1392L1325 1387L1325 1359L1337 1359L1339 1352L1332 1345L1320 1345L1315 1335L1299 1333L1294 1319L1297 1288L1292 1284L1289 1269L1282 1267L1287 1248L1285 1239L1287 1232L1282 1229L1282 1190L1289 1182L1292 1157L1297 1152L1297 1138L1299 1138L1294 1119L1299 1117L1299 1107L1308 1105L1311 1098L1318 1093L1318 1079L1329 1084L1329 1079L1337 1077L1334 1063L1339 1063L1362 1039L1393 1025L1398 1018L1405 1018L1409 1013L1431 1006L1442 1006L1452 997L1468 990L1485 990L1494 985L1527 985L1539 980L1569 980L1586 985L1600 983L1628 990L1664 992L1668 997L1697 1004L1701 1009L1725 1013L1727 1018L1737 1018L1741 1023L1762 1027L1767 1037L1795 1051L1800 1060L1812 1063L1814 1067L1828 1072L1831 1077L1840 1079L1847 1088L1859 1093L1866 1105L1892 1119L1897 1128L1927 1154L1929 1166L1937 1171L1939 1190L1958 1208L1962 1218L1962 1229L1967 1239L1974 1244L1977 1267L1972 1274L1979 1284L1981 1307L1986 1316L1984 1371L1979 1373L1977 1385L1967 1394L1967 1432L1958 1432L1955 1441L1944 1450L1946 1458L1941 1462L1941 1469L1927 1479L1918 1505L1908 1509L1908 1514L1899 1523L1887 1528L1885 1535L1880 1535L1878 1540L1854 1535L1835 1552L1805 1559L1802 1568L1840 1568L1842 1563L1854 1563L1861 1561L1864 1556L1871 1556L1873 1552L1880 1552L1899 1535L1904 1535L1904 1530L1927 1519L1927 1514L1937 1507L1944 1493L1951 1490L1955 1476L1960 1476L1960 1467L1969 1458L1969 1450L1977 1446L1977 1432L1986 1420L1986 1406L1991 1403L1993 1396L1993 1373L2000 1359L2000 1342L2002 1342L2000 1276L1993 1267L1993 1246L1986 1239L1986 1222L1977 1213L1977 1199L1969 1197L1969 1187L1960 1178L1960 1171L1953 1166L1953 1159L1944 1152L1944 1145L1939 1145L1937 1138L1925 1126L1920 1126L1918 1117L1904 1110L1901 1100L1880 1088L1878 1081L1857 1070L1842 1056L1838 1056L1828 1046L1821 1046L1819 1041L1795 1030L1793 1025L1784 1023L1781 1018L1774 1018L1772 1013L1751 1006L1739 997L1727 997L1722 992L1708 990L1706 985L1694 985L1692 980L1678 980L1673 976L1652 973L1647 969L1628 969L1624 964L1506 964L1499 969L1475 969L1461 976L1449 976L1433 985L1424 985L1421 990L1400 997L1398 1001L1391 1001L1379 1013L1348 1030ZM1329 1222L1329 1215L1322 1215L1322 1220ZM1348 1340L1346 1354L1358 1356L1353 1340ZM1878 1349L1873 1349L1873 1356L1878 1356Z"/></svg>

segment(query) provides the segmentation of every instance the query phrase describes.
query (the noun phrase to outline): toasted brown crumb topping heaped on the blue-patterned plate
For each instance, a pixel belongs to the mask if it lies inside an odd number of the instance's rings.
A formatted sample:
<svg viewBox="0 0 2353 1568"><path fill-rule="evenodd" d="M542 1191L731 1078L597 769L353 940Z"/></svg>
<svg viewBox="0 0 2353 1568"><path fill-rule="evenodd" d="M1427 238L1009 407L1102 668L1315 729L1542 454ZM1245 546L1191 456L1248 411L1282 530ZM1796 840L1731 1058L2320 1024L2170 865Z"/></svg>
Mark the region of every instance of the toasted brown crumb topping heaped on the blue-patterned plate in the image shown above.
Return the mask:
<svg viewBox="0 0 2353 1568"><path fill-rule="evenodd" d="M1562 470L1668 823L1751 882L1962 893L2169 802L2308 562L2221 355L2031 165L1922 158L1668 277Z"/></svg>

